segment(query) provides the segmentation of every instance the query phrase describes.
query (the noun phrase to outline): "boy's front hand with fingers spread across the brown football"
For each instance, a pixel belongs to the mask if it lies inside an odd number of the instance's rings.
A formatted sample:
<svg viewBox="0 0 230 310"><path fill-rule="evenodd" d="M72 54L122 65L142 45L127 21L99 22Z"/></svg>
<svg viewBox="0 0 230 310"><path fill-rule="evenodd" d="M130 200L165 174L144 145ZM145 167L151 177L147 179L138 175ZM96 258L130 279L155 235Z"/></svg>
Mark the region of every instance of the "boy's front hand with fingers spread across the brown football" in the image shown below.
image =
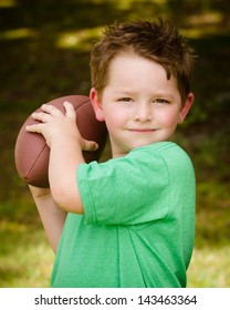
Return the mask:
<svg viewBox="0 0 230 310"><path fill-rule="evenodd" d="M98 145L95 142L86 141L81 136L73 105L70 102L64 102L63 105L66 111L65 115L55 106L43 104L43 112L32 114L33 120L41 123L27 126L27 131L42 134L49 147L52 147L55 141L73 138L82 151L96 151Z"/></svg>

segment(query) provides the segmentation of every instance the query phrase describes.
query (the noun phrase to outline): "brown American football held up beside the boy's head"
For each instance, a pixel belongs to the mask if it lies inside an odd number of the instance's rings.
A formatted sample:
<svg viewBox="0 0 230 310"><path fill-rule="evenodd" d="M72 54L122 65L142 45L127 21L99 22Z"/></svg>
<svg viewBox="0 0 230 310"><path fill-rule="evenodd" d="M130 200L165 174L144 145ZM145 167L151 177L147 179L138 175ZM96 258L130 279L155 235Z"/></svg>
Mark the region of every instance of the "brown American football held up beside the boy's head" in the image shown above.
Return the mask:
<svg viewBox="0 0 230 310"><path fill-rule="evenodd" d="M98 161L107 140L107 128L104 122L98 122L95 117L93 106L88 96L69 95L48 102L60 108L64 113L63 103L69 101L76 112L76 124L83 138L95 141L98 148L95 152L83 152L86 163ZM35 112L41 111L38 108ZM22 125L15 142L14 161L20 177L28 184L48 188L48 167L50 148L44 137L38 133L25 131L27 125L35 124L30 115Z"/></svg>

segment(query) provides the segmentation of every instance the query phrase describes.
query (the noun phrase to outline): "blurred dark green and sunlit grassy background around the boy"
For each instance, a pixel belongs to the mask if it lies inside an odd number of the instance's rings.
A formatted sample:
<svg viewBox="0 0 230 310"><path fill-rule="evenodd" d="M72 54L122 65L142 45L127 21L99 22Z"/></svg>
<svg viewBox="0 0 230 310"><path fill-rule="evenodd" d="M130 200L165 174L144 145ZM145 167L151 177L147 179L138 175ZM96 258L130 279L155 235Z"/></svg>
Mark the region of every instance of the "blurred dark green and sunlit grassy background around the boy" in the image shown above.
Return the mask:
<svg viewBox="0 0 230 310"><path fill-rule="evenodd" d="M88 94L90 52L102 27L159 16L199 55L196 102L175 136L197 174L188 287L230 287L229 0L0 0L0 287L49 287L54 259L14 167L22 123L52 99Z"/></svg>

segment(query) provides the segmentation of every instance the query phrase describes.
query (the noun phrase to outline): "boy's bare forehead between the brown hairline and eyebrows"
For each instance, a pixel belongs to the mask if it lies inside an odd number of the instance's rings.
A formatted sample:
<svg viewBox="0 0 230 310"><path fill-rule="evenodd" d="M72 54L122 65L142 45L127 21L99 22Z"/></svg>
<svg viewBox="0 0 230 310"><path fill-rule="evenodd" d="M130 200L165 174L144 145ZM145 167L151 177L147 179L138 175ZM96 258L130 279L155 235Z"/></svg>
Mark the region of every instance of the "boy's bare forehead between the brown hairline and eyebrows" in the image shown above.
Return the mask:
<svg viewBox="0 0 230 310"><path fill-rule="evenodd" d="M168 79L161 64L138 55L134 58L134 55L122 54L114 59L107 78L106 86L124 95L151 93L151 95L175 97L179 94L174 75Z"/></svg>

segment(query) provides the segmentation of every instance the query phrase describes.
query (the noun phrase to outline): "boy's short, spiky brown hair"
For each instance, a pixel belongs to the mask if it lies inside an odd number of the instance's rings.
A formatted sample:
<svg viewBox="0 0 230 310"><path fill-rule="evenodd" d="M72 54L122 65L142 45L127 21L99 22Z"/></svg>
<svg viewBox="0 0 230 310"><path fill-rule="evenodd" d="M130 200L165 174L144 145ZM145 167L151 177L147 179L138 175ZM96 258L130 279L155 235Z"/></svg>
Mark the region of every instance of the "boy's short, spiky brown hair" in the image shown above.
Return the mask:
<svg viewBox="0 0 230 310"><path fill-rule="evenodd" d="M191 91L194 50L169 21L135 21L108 25L104 38L91 52L92 86L98 93L108 81L112 60L121 52L134 52L139 56L161 64L169 80L176 78L182 102Z"/></svg>

